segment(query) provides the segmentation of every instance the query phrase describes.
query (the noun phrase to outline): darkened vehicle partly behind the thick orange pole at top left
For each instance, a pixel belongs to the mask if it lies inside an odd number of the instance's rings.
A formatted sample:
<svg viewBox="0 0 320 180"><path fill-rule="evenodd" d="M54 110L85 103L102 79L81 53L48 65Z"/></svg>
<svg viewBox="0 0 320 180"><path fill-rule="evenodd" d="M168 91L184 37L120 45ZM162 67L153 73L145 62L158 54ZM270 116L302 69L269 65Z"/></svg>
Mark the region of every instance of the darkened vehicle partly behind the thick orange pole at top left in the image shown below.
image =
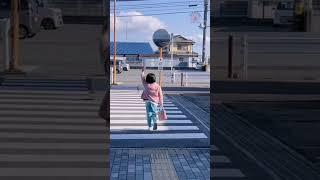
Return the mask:
<svg viewBox="0 0 320 180"><path fill-rule="evenodd" d="M38 6L33 0L20 0L19 38L25 39L36 35L40 31L41 17ZM0 0L0 18L10 18L11 0ZM12 34L12 30L10 30Z"/></svg>

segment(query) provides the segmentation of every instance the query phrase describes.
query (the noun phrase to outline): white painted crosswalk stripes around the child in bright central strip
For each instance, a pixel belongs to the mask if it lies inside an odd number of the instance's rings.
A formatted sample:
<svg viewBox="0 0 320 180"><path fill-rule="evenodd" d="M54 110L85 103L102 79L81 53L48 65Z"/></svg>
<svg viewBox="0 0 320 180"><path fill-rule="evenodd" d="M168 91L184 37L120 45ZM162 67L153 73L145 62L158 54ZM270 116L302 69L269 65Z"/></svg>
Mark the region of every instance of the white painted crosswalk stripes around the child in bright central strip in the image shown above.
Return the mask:
<svg viewBox="0 0 320 180"><path fill-rule="evenodd" d="M184 111L179 109L170 99L164 97L164 109L168 120L157 121L158 130L148 131L145 102L141 99L142 91L127 90L118 92L111 90L110 95L110 131L111 140L126 139L206 139L199 127L188 119ZM135 133L147 131L145 133ZM179 132L180 131L180 132Z"/></svg>

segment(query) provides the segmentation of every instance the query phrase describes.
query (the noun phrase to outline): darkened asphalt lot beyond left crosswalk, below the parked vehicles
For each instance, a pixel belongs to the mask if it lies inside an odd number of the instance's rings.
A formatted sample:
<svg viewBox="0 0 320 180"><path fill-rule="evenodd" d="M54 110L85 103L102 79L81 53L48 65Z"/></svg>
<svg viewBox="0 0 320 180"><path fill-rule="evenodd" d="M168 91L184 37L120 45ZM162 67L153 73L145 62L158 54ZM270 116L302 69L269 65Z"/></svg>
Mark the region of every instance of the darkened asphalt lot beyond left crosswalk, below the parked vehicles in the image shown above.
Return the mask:
<svg viewBox="0 0 320 180"><path fill-rule="evenodd" d="M56 30L42 29L33 38L20 41L19 64L35 76L103 75L99 57L100 36L99 25L65 24Z"/></svg>

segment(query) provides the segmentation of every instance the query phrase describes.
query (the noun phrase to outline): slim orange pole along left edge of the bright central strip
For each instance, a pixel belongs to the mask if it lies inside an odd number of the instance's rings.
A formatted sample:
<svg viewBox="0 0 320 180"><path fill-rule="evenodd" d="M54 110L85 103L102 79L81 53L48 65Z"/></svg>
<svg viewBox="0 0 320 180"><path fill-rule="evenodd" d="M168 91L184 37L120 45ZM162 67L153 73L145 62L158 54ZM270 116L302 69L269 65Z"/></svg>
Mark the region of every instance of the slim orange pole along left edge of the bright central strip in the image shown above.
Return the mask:
<svg viewBox="0 0 320 180"><path fill-rule="evenodd" d="M113 85L117 84L116 1L113 1Z"/></svg>

